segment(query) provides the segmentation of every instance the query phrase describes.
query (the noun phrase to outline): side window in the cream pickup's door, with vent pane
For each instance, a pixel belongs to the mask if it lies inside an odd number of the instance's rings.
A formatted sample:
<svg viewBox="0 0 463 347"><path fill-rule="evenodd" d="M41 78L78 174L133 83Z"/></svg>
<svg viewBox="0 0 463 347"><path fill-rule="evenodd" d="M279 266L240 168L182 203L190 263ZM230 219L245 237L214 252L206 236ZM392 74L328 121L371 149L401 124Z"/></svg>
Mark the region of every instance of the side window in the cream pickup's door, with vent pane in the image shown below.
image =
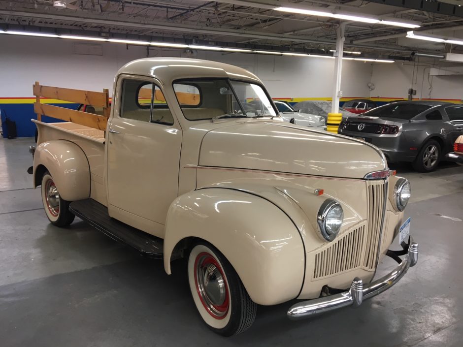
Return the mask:
<svg viewBox="0 0 463 347"><path fill-rule="evenodd" d="M121 117L142 122L172 125L173 117L161 89L154 83L122 81Z"/></svg>

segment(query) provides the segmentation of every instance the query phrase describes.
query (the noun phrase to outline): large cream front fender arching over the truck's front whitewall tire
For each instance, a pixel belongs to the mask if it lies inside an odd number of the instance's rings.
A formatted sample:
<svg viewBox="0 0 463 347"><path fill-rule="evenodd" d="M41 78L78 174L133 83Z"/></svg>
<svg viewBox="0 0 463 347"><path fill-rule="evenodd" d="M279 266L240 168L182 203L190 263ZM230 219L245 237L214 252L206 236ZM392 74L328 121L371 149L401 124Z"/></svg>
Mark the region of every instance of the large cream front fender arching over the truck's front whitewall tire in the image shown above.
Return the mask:
<svg viewBox="0 0 463 347"><path fill-rule="evenodd" d="M230 261L251 299L275 305L298 296L304 279L305 252L291 219L262 197L225 188L208 188L179 196L167 214L165 271L186 238L199 238Z"/></svg>

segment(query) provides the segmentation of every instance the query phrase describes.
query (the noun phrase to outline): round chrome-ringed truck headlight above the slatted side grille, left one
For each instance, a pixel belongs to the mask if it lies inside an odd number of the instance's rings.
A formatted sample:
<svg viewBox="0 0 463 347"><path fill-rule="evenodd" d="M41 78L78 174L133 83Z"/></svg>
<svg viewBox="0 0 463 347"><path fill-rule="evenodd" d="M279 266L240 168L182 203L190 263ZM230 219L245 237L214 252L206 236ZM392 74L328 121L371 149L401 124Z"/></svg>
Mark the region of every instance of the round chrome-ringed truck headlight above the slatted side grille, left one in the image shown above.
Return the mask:
<svg viewBox="0 0 463 347"><path fill-rule="evenodd" d="M318 210L317 223L318 229L323 238L333 241L341 229L344 212L339 202L327 199Z"/></svg>

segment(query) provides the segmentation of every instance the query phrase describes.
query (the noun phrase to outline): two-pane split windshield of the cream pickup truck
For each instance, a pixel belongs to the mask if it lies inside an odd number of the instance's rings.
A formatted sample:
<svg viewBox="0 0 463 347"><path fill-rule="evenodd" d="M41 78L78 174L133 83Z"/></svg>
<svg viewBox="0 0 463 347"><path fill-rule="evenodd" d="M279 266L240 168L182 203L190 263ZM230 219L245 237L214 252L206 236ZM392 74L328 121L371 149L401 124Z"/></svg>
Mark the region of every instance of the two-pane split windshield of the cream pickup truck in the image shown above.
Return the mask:
<svg viewBox="0 0 463 347"><path fill-rule="evenodd" d="M189 79L175 81L173 89L189 121L276 116L264 89L254 83L220 78Z"/></svg>

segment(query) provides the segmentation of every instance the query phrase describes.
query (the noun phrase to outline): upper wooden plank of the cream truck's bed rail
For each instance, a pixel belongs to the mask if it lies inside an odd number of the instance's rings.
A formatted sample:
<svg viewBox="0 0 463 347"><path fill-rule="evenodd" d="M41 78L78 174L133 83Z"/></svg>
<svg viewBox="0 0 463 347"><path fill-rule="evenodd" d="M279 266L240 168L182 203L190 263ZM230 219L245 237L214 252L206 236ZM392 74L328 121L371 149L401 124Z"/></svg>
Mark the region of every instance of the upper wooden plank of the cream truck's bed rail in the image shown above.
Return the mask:
<svg viewBox="0 0 463 347"><path fill-rule="evenodd" d="M36 84L33 85L33 94L37 97L49 97L51 99L71 101L79 104L92 105L96 107L109 106L107 93L40 86L36 82Z"/></svg>

